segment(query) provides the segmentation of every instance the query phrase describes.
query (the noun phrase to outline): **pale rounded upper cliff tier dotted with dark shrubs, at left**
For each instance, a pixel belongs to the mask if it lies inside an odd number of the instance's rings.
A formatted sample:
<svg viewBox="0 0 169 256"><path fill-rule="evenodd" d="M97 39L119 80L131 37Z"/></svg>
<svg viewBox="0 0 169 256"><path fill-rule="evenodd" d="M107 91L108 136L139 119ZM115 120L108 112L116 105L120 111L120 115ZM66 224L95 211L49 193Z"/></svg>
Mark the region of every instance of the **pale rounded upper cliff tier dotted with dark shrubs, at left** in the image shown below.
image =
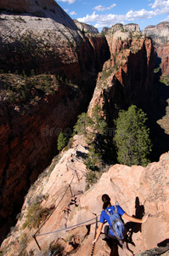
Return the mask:
<svg viewBox="0 0 169 256"><path fill-rule="evenodd" d="M33 69L37 74L56 73L85 86L83 80L96 78L109 58L105 38L84 38L77 27L71 29L48 18L2 15L0 31L0 68L7 73L24 70L30 74Z"/></svg>

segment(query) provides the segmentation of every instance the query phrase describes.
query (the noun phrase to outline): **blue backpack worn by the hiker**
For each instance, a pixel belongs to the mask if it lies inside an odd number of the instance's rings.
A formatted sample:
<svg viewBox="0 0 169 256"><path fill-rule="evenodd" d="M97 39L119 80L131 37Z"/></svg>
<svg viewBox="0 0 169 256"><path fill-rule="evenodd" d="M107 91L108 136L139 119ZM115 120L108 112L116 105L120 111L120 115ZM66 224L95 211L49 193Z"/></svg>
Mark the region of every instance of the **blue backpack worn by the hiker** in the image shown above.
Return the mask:
<svg viewBox="0 0 169 256"><path fill-rule="evenodd" d="M115 202L115 210L108 211L105 209L105 213L110 217L110 230L114 233L118 240L123 240L126 236L126 228L121 215L117 213L118 202Z"/></svg>

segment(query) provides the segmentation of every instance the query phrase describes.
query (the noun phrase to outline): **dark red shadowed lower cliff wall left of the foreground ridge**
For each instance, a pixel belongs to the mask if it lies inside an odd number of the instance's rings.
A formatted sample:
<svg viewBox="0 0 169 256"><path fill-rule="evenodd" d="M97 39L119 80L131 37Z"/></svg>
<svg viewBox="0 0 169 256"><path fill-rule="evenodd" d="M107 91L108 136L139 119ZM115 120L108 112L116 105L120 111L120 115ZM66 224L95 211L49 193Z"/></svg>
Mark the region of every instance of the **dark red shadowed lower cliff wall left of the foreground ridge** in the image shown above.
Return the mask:
<svg viewBox="0 0 169 256"><path fill-rule="evenodd" d="M57 137L71 134L81 112L82 91L62 84L53 96L20 111L1 102L0 224L4 236L14 225L27 190L57 153ZM12 221L13 220L13 221ZM6 227L6 230L5 230Z"/></svg>

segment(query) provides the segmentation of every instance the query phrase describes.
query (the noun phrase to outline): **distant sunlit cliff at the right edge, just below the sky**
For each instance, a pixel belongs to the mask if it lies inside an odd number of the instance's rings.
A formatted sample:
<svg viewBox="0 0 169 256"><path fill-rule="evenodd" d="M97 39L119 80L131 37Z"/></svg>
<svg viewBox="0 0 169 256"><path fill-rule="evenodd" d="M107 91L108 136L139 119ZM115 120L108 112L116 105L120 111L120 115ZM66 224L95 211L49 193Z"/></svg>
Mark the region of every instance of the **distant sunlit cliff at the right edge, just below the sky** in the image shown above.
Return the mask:
<svg viewBox="0 0 169 256"><path fill-rule="evenodd" d="M161 67L161 73L169 74L168 49L169 49L169 22L161 22L156 26L147 26L144 34L150 35L155 43L156 66Z"/></svg>

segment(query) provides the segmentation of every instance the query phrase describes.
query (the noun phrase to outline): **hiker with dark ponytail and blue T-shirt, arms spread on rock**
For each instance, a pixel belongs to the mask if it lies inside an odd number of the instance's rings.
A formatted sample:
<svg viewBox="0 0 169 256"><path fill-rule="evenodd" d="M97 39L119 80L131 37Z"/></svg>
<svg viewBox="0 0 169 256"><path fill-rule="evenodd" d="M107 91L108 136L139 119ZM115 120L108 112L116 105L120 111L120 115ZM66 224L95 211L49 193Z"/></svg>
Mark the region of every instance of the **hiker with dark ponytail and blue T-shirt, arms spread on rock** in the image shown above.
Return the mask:
<svg viewBox="0 0 169 256"><path fill-rule="evenodd" d="M107 194L104 194L102 195L102 201L104 202L103 204L103 211L101 212L101 215L100 215L100 221L99 221L99 227L98 227L98 230L97 230L97 234L96 234L96 238L94 239L93 241L93 244L98 241L99 239L99 235L102 231L102 228L103 228L103 225L104 225L104 220L108 222L109 226L106 225L104 227L104 240L107 240L107 239L115 239L115 240L118 240L120 242L120 244L123 244L123 239L124 238L120 238L118 237L117 238L117 235L113 233L113 231L110 229L110 227L112 227L112 223L110 222L110 210L113 210L115 211L115 206L111 206L111 202L110 202L110 196L107 195ZM126 212L123 211L123 209L117 205L116 206L116 209L117 209L117 213L120 215L120 217L122 216L123 218L126 218L128 221L131 221L131 222L135 222L135 223L145 223L149 217L149 214L145 215L142 219L139 219L139 218L134 218L132 216L129 216ZM124 226L124 224L123 224ZM125 227L124 227L125 229ZM114 231L115 232L115 231ZM123 234L124 237L126 236L126 232Z"/></svg>

